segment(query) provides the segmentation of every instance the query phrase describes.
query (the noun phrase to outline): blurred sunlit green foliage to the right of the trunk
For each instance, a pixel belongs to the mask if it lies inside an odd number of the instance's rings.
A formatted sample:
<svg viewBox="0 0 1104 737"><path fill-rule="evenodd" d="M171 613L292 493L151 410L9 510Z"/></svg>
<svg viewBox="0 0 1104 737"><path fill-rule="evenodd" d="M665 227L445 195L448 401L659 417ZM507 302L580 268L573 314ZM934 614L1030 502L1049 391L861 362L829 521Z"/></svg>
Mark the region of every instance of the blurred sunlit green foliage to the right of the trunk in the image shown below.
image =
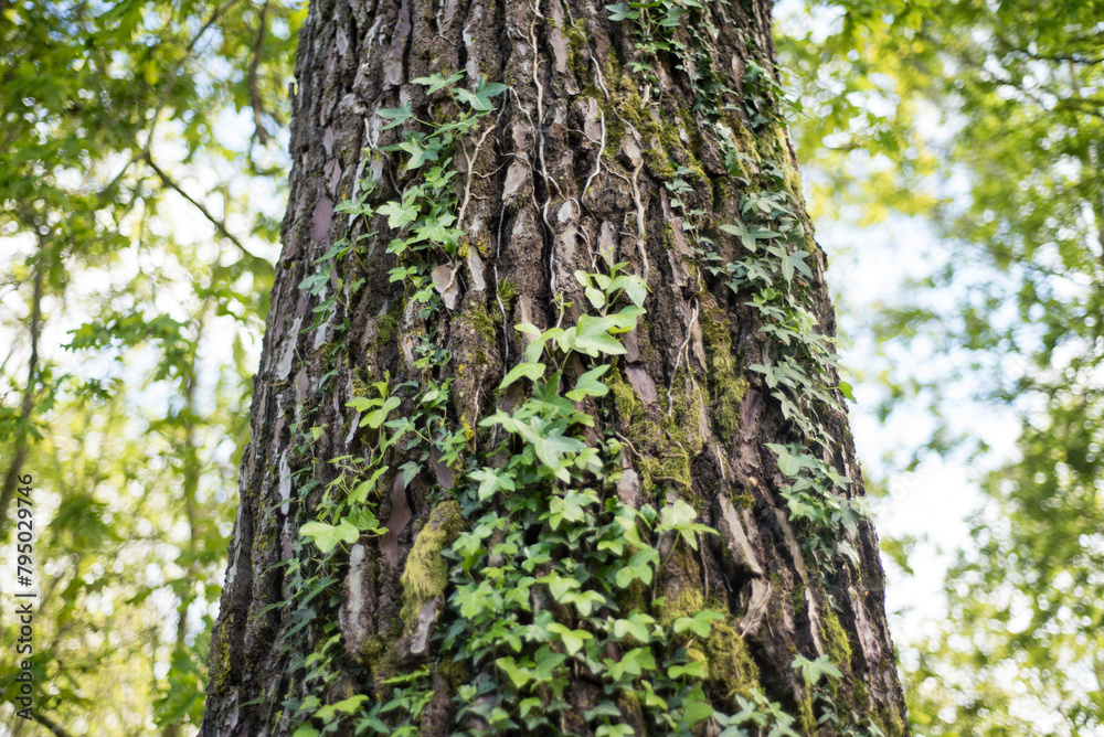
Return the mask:
<svg viewBox="0 0 1104 737"><path fill-rule="evenodd" d="M860 203L863 223L921 215L944 242L874 325L882 415L923 403L936 423L901 463L987 452L943 397L968 392L1022 421L1012 458L978 461L999 470L949 573L943 631L906 659L911 719L933 735L1093 734L1104 6L821 4L827 24L779 39L809 113L798 151L830 172L817 199ZM927 354L953 365L915 361Z"/></svg>

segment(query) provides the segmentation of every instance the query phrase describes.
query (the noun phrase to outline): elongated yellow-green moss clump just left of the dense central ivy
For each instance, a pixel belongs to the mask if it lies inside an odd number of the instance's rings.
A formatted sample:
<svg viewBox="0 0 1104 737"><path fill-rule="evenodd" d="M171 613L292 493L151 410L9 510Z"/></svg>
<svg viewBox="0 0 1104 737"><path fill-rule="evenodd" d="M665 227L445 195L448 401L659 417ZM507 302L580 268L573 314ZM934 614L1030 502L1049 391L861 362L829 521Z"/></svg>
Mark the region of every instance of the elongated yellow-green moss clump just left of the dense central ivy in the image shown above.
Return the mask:
<svg viewBox="0 0 1104 737"><path fill-rule="evenodd" d="M465 524L460 505L449 500L433 509L429 520L414 538L414 547L406 557L401 579L403 609L400 617L406 632L414 630L422 606L444 595L448 585L448 567L440 552L456 541Z"/></svg>

